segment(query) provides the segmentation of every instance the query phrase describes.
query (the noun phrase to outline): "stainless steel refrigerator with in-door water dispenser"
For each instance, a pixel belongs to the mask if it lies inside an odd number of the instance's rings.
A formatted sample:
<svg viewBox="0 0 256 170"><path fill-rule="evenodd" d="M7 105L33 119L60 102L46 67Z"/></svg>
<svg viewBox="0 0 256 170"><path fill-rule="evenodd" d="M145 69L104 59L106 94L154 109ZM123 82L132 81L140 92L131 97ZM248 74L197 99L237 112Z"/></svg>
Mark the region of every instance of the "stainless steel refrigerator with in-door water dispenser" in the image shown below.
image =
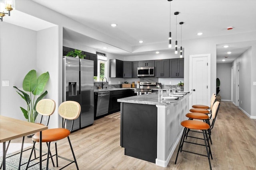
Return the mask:
<svg viewBox="0 0 256 170"><path fill-rule="evenodd" d="M74 121L73 130L94 122L94 61L63 57L63 102L73 100L81 105L80 117ZM67 120L66 128L71 129Z"/></svg>

